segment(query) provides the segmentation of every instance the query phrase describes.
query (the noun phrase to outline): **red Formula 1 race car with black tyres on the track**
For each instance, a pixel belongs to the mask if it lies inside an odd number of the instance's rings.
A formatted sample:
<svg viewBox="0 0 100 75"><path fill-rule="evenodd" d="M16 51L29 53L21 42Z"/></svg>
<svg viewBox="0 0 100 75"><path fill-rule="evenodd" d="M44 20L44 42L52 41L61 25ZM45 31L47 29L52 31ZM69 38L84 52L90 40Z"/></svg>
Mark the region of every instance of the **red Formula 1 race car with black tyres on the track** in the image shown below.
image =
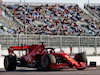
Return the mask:
<svg viewBox="0 0 100 75"><path fill-rule="evenodd" d="M17 57L14 51L25 51L25 55ZM54 48L46 48L46 45L14 46L8 49L9 55L4 58L4 67L7 71L13 71L16 67L30 67L37 70L86 68L87 58L84 53L78 53L74 59L64 52L56 53Z"/></svg>

